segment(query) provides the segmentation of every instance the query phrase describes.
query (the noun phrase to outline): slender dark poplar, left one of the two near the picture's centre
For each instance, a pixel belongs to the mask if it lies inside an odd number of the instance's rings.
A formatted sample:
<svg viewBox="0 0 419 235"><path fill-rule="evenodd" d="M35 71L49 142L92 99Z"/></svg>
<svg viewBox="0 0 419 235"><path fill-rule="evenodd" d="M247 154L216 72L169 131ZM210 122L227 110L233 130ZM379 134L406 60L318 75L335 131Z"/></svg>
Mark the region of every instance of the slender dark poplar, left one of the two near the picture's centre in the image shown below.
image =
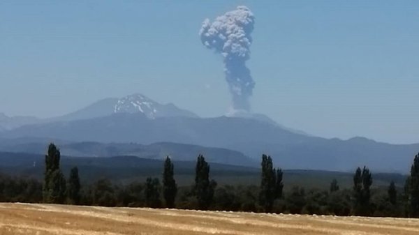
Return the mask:
<svg viewBox="0 0 419 235"><path fill-rule="evenodd" d="M173 177L174 169L173 163L169 157L164 162L163 171L163 197L168 208L175 207L175 198L177 194L177 184Z"/></svg>

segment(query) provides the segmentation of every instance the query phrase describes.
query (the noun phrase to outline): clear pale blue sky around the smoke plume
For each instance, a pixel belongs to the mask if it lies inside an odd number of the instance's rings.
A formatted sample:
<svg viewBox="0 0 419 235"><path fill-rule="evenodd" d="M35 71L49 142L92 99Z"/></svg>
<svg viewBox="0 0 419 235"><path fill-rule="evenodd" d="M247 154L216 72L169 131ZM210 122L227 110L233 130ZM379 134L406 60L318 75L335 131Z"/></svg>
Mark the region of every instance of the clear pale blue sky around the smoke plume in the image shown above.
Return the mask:
<svg viewBox="0 0 419 235"><path fill-rule="evenodd" d="M0 112L57 116L144 93L228 112L219 54L198 31L256 16L251 105L322 137L419 142L419 1L0 1Z"/></svg>

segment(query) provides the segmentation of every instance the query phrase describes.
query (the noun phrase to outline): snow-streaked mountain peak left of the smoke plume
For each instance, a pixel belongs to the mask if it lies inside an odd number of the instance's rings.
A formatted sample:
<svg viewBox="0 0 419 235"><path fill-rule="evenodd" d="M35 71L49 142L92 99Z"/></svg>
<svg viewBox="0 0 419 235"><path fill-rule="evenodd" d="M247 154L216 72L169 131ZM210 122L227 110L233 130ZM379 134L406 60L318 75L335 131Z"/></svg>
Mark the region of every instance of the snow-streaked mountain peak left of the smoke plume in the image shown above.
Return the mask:
<svg viewBox="0 0 419 235"><path fill-rule="evenodd" d="M149 119L170 116L198 117L193 112L179 109L172 103L162 105L139 93L119 99L114 107L114 113L143 113Z"/></svg>

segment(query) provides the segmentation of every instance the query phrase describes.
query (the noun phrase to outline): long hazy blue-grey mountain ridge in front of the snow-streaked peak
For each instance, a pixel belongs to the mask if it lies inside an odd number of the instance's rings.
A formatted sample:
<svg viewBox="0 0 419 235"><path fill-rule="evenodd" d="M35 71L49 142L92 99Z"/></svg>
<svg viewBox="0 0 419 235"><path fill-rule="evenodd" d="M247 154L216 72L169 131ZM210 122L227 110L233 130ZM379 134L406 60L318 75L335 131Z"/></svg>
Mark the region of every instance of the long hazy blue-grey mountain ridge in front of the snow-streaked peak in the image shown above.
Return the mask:
<svg viewBox="0 0 419 235"><path fill-rule="evenodd" d="M184 117L149 119L145 114L114 114L96 119L24 126L0 136L45 137L90 142L177 142L240 151L259 160L272 155L283 168L407 172L419 144L393 145L368 139L323 139L300 135L254 119Z"/></svg>

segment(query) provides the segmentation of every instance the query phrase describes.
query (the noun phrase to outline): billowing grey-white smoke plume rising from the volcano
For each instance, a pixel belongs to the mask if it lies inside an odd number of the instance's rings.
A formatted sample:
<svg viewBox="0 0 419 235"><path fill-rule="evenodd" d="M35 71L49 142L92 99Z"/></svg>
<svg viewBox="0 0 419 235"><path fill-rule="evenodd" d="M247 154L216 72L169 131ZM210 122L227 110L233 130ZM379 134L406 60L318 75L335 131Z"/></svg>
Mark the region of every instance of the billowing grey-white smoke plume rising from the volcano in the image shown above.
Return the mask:
<svg viewBox="0 0 419 235"><path fill-rule="evenodd" d="M233 98L233 109L250 110L249 97L255 82L246 61L250 58L253 13L246 6L216 17L214 22L206 19L199 35L205 47L220 53L224 59L224 73Z"/></svg>

